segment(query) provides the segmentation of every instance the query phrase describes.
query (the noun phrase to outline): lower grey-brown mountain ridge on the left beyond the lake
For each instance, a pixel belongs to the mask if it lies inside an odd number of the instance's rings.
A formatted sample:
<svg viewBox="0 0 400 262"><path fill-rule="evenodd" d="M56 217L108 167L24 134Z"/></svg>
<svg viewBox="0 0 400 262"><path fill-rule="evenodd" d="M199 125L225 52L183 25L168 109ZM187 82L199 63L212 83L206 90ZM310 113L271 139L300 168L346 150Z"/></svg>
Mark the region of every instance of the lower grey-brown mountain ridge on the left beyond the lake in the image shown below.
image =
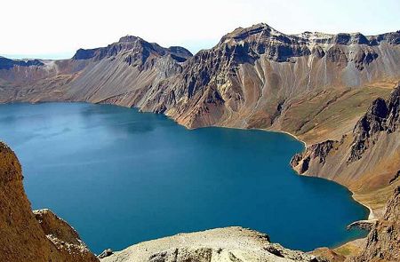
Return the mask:
<svg viewBox="0 0 400 262"><path fill-rule="evenodd" d="M70 60L0 60L1 101L87 101L140 107L156 84L181 71L191 57L181 47L163 48L140 37L80 49ZM9 66L11 64L11 66Z"/></svg>

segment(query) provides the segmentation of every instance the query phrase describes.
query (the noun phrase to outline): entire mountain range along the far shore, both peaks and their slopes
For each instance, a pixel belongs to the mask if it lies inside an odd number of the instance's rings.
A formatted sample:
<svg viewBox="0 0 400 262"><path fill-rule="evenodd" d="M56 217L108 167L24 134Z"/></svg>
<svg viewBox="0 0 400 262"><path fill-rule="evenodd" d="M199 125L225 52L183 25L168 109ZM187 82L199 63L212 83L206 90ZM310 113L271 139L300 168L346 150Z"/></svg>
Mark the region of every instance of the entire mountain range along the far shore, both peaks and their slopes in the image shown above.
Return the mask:
<svg viewBox="0 0 400 262"><path fill-rule="evenodd" d="M0 60L0 101L112 103L164 113L189 128L266 128L301 136L329 123L314 119L332 107L356 103L347 126L382 95L354 87L399 79L399 39L398 31L285 35L258 24L237 28L192 57L181 47L125 36L107 47L78 50L71 60Z"/></svg>

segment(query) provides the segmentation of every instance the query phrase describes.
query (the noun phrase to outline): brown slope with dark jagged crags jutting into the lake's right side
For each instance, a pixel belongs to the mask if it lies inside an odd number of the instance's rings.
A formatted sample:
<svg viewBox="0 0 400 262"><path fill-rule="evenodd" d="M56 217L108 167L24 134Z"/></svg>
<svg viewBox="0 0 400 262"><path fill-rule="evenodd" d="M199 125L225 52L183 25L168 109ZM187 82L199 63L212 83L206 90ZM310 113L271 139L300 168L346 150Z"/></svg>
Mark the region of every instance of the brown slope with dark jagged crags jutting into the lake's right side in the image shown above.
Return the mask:
<svg viewBox="0 0 400 262"><path fill-rule="evenodd" d="M388 195L400 185L400 83L389 98L375 99L353 131L340 140L311 145L292 158L300 174L332 179L381 215Z"/></svg>

